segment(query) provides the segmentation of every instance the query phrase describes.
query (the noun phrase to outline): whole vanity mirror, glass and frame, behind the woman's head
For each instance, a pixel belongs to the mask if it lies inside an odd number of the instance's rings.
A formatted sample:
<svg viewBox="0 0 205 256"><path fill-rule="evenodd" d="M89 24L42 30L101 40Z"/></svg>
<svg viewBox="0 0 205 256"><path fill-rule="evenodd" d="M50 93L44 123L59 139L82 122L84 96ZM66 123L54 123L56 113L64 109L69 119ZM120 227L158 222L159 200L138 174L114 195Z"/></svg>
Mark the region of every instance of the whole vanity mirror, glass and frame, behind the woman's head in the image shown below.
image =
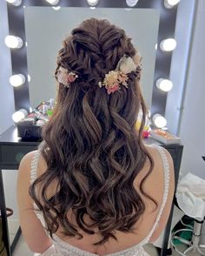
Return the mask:
<svg viewBox="0 0 205 256"><path fill-rule="evenodd" d="M169 79L172 51L162 51L160 43L174 37L177 5L167 8L164 1L140 0L130 8L128 3L101 0L95 7L76 0L61 0L57 6L45 0L22 1L19 6L8 3L10 35L23 40L20 49L11 51L12 71L26 78L24 84L14 87L16 110L29 110L56 97L53 73L63 38L84 19L98 17L108 18L133 38L143 57L143 95L151 113L163 115L167 92L156 88L155 83L161 77Z"/></svg>

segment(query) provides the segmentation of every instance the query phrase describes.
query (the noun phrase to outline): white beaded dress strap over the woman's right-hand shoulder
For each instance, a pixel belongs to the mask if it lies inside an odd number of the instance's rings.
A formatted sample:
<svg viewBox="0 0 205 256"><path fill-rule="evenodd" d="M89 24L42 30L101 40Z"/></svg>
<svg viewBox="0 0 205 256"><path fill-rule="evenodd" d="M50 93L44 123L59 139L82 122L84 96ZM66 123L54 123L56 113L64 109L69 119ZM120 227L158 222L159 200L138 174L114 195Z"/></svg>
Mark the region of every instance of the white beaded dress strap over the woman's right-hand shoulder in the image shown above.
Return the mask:
<svg viewBox="0 0 205 256"><path fill-rule="evenodd" d="M156 226L158 226L159 224L159 220L162 216L162 212L164 209L164 206L166 205L167 199L168 199L168 194L169 194L169 179L170 179L170 175L169 175L169 162L168 162L168 158L167 155L165 153L165 150L163 147L161 146L155 146L155 148L157 148L158 152L160 152L160 155L162 157L162 164L163 164L163 170L164 170L164 193L163 193L163 199L162 199L162 205L160 208L160 211L158 212L158 215L155 219L155 224L152 227L151 231L149 232L148 235L148 240L151 238L151 236L153 235Z"/></svg>

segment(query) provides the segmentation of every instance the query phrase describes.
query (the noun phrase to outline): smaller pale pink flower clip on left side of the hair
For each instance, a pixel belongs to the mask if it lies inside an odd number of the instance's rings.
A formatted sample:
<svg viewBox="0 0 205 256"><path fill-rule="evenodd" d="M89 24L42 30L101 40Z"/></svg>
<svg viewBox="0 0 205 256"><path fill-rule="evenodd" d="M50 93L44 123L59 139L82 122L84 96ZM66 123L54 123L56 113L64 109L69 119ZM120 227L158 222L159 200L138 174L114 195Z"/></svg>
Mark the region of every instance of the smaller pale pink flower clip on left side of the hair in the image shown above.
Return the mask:
<svg viewBox="0 0 205 256"><path fill-rule="evenodd" d="M77 77L78 75L75 72L69 72L63 67L60 67L56 74L57 81L67 88L69 88L69 84L73 83Z"/></svg>

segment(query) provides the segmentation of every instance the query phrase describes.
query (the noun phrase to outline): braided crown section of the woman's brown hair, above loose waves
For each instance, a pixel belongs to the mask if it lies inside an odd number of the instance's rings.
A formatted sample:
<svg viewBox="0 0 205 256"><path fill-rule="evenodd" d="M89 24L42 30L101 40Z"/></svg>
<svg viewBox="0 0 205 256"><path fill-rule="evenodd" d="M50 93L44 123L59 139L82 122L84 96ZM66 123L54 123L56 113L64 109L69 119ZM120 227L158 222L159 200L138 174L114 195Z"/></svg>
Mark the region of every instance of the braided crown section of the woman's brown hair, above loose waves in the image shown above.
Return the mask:
<svg viewBox="0 0 205 256"><path fill-rule="evenodd" d="M71 36L64 41L57 60L57 68L63 65L82 77L80 84L85 89L88 84L96 87L105 74L115 70L123 54L133 56L135 53L134 49L125 51L130 38L126 37L124 30L117 29L114 25L108 27L106 20L99 24L96 19L92 19L92 23L90 25L85 21L82 27L72 30Z"/></svg>

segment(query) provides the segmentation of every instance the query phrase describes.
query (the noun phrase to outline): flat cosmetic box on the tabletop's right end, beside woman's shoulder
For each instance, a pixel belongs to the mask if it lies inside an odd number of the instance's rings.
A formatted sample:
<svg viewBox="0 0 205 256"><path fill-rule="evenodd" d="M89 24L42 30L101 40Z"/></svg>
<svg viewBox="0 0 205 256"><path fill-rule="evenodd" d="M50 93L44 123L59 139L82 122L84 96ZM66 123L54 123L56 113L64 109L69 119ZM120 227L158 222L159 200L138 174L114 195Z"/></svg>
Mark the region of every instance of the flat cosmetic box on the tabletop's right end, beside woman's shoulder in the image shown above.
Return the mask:
<svg viewBox="0 0 205 256"><path fill-rule="evenodd" d="M158 141L161 141L163 144L171 145L171 144L180 144L181 138L175 136L169 131L165 131L162 129L154 129L149 131L152 138L155 138Z"/></svg>

